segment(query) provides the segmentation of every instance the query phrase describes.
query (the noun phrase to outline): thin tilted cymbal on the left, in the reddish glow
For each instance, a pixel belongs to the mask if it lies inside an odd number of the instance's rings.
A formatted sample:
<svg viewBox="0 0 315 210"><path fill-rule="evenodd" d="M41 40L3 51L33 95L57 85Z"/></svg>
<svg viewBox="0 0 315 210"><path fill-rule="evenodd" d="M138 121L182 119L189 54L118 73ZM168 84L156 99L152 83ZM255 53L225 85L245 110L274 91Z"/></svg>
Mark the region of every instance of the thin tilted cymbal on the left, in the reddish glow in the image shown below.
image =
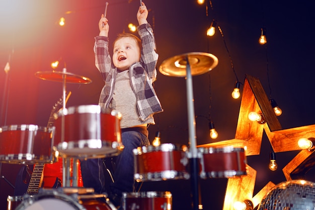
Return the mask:
<svg viewBox="0 0 315 210"><path fill-rule="evenodd" d="M63 72L36 72L35 76L42 79L42 80L49 80L53 82L63 82L65 77L66 83L80 83L80 84L89 84L92 83L92 80L83 77L80 75L74 75L72 73L63 73Z"/></svg>

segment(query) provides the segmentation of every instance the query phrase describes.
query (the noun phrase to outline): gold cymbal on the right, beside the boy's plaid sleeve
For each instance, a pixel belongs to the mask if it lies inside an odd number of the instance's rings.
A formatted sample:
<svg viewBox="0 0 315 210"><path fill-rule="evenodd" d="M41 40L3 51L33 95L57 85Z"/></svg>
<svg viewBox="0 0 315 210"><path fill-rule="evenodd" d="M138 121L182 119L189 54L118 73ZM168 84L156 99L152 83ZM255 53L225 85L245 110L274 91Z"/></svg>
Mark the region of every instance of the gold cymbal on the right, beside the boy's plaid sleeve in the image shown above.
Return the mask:
<svg viewBox="0 0 315 210"><path fill-rule="evenodd" d="M209 72L218 64L217 57L210 53L189 52L164 60L160 65L159 71L166 76L186 77L186 57L188 57L192 76Z"/></svg>

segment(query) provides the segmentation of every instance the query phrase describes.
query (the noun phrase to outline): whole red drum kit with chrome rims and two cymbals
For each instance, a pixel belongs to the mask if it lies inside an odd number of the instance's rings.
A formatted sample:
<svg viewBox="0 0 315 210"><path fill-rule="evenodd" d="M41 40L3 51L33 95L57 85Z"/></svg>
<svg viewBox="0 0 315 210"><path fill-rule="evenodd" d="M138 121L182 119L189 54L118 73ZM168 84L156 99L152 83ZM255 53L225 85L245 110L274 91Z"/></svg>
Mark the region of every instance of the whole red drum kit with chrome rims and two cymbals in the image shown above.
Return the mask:
<svg viewBox="0 0 315 210"><path fill-rule="evenodd" d="M160 72L185 77L187 86L189 147L174 144L147 146L133 150L134 179L138 182L191 179L193 208L198 209L198 178L229 178L246 174L243 148L197 148L192 76L211 71L218 63L209 53L192 52L165 60ZM89 84L89 78L62 72L37 72L42 80L62 82L62 109L53 109L47 127L9 125L0 127L0 162L13 164L52 164L62 160L63 186L8 197L7 210L31 209L107 209L115 210L105 194L77 187L80 159L117 156L124 148L120 136L120 113L103 110L99 105L65 107L66 83ZM56 108L56 107L54 107ZM156 161L159 160L159 161ZM34 172L33 172L34 174ZM41 178L42 173L39 175ZM31 184L31 183L30 183ZM123 209L172 209L171 192L123 193Z"/></svg>

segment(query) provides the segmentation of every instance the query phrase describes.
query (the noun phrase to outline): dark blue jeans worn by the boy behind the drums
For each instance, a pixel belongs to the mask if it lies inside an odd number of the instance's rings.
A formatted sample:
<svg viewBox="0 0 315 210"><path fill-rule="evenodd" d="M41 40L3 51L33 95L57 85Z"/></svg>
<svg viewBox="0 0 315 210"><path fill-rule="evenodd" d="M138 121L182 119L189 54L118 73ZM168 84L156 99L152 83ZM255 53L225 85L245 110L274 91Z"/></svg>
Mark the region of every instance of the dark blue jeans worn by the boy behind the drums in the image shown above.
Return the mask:
<svg viewBox="0 0 315 210"><path fill-rule="evenodd" d="M114 183L110 183L110 192L121 197L122 192L134 191L134 155L132 150L148 146L148 131L143 128L122 128L121 140L124 150L117 156ZM106 191L105 168L102 159L81 160L81 173L84 187L94 188L95 193Z"/></svg>

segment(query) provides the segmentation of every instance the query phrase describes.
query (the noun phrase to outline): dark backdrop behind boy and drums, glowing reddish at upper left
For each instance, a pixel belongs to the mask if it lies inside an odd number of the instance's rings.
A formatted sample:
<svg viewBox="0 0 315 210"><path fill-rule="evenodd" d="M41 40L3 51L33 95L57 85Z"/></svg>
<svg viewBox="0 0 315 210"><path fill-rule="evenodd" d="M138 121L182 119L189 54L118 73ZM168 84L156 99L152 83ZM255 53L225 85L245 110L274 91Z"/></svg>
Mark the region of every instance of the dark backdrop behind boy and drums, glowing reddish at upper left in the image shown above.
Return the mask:
<svg viewBox="0 0 315 210"><path fill-rule="evenodd" d="M127 32L129 22L137 24L139 2L108 2L109 38L113 41L117 33ZM104 82L94 65L93 45L105 3L0 1L0 70L8 61L11 66L8 74L0 71L0 125L47 125L52 106L62 96L62 83L44 81L34 74L52 71L50 63L60 57L66 62L67 72L93 81L88 85L67 84L67 91L72 92L67 107L98 104ZM229 54L240 82L244 82L245 74L257 77L267 96L276 100L283 110L278 117L283 128L314 124L315 3L214 0L208 16L205 4L209 2L198 5L193 0L147 0L145 4L150 9L147 20L153 26L159 53L157 69L165 59L187 52L209 52L219 60L213 71L193 77L195 114L205 116L196 118L197 145L214 142L209 138L209 113L219 133L215 141L234 138L241 99L230 95L237 78ZM60 17L66 19L64 27L57 24ZM213 18L222 29L229 54L218 30L213 37L206 37ZM267 29L267 46L258 43L261 27ZM149 126L150 141L160 130L162 143L188 145L185 79L158 72L154 84L164 112L155 115L156 125ZM248 157L248 164L257 170L254 195L269 181L285 181L281 169L298 151L277 154L276 172L268 169L269 152L270 144L264 135L261 154ZM1 175L14 184L20 167L4 163ZM305 178L313 181L313 174L310 170ZM226 181L200 180L204 209L222 208ZM0 206L6 206L6 198L14 190L3 178L0 189ZM190 180L146 182L141 190L171 191L174 210L190 205Z"/></svg>

